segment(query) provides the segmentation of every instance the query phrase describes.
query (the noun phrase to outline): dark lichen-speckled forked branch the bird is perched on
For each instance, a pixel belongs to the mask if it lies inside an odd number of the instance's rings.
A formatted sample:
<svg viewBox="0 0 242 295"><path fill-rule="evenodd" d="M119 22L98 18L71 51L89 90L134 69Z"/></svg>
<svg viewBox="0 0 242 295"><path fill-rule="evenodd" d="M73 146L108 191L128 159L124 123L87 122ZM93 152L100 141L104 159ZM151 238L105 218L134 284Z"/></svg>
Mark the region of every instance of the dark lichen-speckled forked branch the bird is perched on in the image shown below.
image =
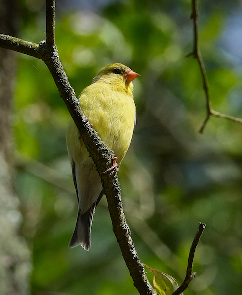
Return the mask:
<svg viewBox="0 0 242 295"><path fill-rule="evenodd" d="M74 89L71 87L64 68L60 62L55 45L55 1L46 0L46 41L39 44L27 42L11 36L0 34L0 47L15 50L39 59L42 59L49 68L54 82L64 100L74 122L76 123L84 143L97 166L101 177L103 189L108 201L113 231L119 243L126 265L134 281L134 286L141 295L154 295L144 270L135 250L129 226L123 212L121 191L117 173L103 173L110 167L110 159L114 157L113 151L102 142L98 133L91 128L86 120Z"/></svg>

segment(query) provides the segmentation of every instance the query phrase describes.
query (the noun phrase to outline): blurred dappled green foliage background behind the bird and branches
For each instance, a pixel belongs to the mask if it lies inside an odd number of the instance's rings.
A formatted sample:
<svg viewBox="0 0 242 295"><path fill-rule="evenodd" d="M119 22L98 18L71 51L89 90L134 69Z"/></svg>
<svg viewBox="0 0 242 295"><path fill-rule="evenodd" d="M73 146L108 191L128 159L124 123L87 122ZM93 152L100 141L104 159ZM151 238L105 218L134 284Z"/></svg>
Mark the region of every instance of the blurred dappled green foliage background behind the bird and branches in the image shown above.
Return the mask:
<svg viewBox="0 0 242 295"><path fill-rule="evenodd" d="M213 108L242 118L240 1L200 1L199 36ZM45 1L20 4L19 36L45 38ZM186 295L242 293L242 125L211 118L193 49L190 0L59 0L56 42L77 95L99 69L121 62L134 80L137 125L119 180L143 263L186 272L199 222L206 230ZM77 200L65 144L68 111L45 64L17 54L13 114L22 235L33 250L33 295L137 294L105 197L91 249L68 249ZM148 273L152 282L153 275Z"/></svg>

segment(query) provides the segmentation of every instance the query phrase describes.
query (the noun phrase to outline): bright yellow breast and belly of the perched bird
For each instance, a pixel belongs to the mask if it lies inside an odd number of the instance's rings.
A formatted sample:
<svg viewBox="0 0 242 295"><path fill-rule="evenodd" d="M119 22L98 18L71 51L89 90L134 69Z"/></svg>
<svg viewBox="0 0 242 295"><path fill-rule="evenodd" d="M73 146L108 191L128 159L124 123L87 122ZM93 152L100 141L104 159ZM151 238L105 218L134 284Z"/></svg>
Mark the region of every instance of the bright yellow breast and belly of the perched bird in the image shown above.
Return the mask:
<svg viewBox="0 0 242 295"><path fill-rule="evenodd" d="M79 101L86 116L101 139L117 156L118 164L125 156L133 134L135 104L128 91L117 91L99 81L86 87Z"/></svg>

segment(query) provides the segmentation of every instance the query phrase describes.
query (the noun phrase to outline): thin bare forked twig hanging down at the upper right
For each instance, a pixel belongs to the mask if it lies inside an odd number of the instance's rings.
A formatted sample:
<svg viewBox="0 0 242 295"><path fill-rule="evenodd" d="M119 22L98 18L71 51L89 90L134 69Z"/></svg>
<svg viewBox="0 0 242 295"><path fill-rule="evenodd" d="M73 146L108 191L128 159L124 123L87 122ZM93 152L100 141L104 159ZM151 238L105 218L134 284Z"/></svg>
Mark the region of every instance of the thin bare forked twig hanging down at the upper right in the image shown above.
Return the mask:
<svg viewBox="0 0 242 295"><path fill-rule="evenodd" d="M212 109L210 95L209 95L208 78L207 78L207 74L206 74L204 61L203 61L201 51L200 51L200 48L199 48L198 25L197 25L197 19L198 19L197 0L192 0L191 19L193 19L194 48L193 48L193 51L187 55L187 57L192 55L198 61L199 68L200 68L200 71L201 71L201 74L202 74L202 79L203 79L203 88L204 88L204 92L205 92L205 96L206 96L206 118L205 118L199 132L203 133L204 128L205 128L210 116L214 116L214 117L218 117L218 118L224 118L224 119L228 119L230 121L242 124L242 119L241 118L236 118L236 117L233 117L233 116L221 114L221 113L216 112L216 111L214 111Z"/></svg>

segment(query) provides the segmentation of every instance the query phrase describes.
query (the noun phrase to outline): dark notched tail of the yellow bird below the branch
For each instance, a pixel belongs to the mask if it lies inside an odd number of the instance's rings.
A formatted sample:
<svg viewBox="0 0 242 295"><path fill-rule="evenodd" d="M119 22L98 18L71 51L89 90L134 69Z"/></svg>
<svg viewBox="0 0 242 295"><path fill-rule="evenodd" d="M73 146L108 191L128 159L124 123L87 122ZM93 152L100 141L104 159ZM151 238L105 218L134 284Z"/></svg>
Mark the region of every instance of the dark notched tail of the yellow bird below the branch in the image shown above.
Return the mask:
<svg viewBox="0 0 242 295"><path fill-rule="evenodd" d="M81 247L85 249L86 251L90 250L90 235L91 235L93 214L103 194L104 193L102 190L97 201L94 202L92 206L90 207L90 209L87 210L84 214L81 214L81 210L79 208L77 222L76 222L76 226L75 226L72 238L69 242L69 248L74 248L78 245L81 245Z"/></svg>

